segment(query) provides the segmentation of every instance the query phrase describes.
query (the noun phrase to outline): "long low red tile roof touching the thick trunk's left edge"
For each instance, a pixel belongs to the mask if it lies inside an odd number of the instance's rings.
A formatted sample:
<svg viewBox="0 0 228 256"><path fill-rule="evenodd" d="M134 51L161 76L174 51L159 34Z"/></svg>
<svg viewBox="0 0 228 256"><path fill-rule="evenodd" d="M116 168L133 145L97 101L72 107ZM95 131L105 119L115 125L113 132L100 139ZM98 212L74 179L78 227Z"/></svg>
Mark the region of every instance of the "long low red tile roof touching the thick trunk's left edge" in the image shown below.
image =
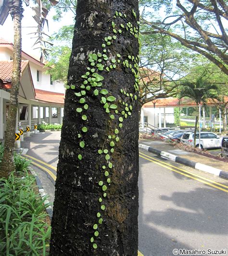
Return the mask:
<svg viewBox="0 0 228 256"><path fill-rule="evenodd" d="M36 92L37 100L51 102L51 103L64 104L64 98L65 98L64 94L48 92L48 91L39 90L39 89L35 89L35 92Z"/></svg>

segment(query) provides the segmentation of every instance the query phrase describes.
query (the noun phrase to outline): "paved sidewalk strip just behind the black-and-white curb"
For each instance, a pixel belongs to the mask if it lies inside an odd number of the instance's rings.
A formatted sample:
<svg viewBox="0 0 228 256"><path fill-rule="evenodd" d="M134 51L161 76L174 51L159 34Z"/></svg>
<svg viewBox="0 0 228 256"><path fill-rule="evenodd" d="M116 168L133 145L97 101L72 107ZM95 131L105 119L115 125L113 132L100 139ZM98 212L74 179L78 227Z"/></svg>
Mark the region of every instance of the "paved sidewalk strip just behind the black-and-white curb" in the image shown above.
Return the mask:
<svg viewBox="0 0 228 256"><path fill-rule="evenodd" d="M147 145L151 148L156 148L161 151L169 152L171 154L177 155L178 157L184 158L186 160L190 160L193 162L199 162L205 165L209 165L211 167L221 169L223 171L228 172L228 163L219 161L213 158L205 157L193 152L188 152L185 150L181 150L178 148L173 147L169 143L165 141L159 140L149 140L149 139L139 139L139 144Z"/></svg>

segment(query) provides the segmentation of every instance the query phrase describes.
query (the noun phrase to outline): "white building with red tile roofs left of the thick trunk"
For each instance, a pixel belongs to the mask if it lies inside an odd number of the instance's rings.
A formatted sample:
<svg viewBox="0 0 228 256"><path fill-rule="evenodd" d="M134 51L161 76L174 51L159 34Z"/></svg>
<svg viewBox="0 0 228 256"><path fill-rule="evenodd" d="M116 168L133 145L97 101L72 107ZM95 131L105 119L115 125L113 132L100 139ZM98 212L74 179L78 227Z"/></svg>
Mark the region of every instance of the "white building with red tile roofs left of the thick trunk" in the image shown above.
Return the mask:
<svg viewBox="0 0 228 256"><path fill-rule="evenodd" d="M13 43L0 38L0 139L4 137L13 70ZM44 64L22 51L17 124L62 123L64 85L52 81Z"/></svg>

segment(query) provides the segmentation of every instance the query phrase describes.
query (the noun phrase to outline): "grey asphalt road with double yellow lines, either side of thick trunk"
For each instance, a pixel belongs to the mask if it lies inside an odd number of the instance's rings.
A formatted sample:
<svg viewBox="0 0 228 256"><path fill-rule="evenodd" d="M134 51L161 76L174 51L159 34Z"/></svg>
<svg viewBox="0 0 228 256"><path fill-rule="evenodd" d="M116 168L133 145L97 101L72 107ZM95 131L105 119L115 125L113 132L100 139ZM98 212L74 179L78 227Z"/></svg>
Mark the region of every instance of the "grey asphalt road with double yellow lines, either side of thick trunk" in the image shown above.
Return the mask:
<svg viewBox="0 0 228 256"><path fill-rule="evenodd" d="M52 132L22 142L51 202L59 140L60 132ZM144 256L169 256L180 248L228 250L226 180L143 150L139 165L139 251Z"/></svg>

